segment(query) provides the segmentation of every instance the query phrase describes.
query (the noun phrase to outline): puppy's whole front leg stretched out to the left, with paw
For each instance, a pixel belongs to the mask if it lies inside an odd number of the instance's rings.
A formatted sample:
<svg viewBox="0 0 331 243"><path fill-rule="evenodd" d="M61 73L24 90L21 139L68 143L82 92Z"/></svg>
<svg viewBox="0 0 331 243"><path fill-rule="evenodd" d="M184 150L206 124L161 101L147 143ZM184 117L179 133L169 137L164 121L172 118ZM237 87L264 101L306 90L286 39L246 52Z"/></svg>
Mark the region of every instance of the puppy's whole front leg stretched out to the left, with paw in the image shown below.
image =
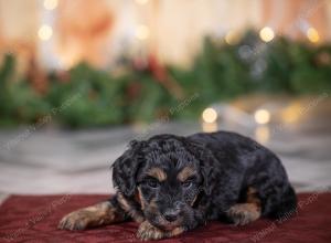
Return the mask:
<svg viewBox="0 0 331 243"><path fill-rule="evenodd" d="M122 222L125 212L117 204L116 198L90 205L65 215L57 228L62 230L85 230L110 223Z"/></svg>

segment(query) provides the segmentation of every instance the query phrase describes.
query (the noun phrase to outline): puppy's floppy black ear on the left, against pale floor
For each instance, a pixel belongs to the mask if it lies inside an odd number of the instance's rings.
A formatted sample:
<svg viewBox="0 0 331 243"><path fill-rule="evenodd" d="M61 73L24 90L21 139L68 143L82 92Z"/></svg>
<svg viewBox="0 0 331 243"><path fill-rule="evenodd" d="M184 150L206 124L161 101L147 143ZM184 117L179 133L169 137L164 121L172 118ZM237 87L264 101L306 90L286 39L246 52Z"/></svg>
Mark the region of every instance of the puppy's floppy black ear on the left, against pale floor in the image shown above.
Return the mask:
<svg viewBox="0 0 331 243"><path fill-rule="evenodd" d="M113 183L125 196L132 197L135 194L136 175L142 160L143 141L132 140L130 148L126 150L113 163Z"/></svg>

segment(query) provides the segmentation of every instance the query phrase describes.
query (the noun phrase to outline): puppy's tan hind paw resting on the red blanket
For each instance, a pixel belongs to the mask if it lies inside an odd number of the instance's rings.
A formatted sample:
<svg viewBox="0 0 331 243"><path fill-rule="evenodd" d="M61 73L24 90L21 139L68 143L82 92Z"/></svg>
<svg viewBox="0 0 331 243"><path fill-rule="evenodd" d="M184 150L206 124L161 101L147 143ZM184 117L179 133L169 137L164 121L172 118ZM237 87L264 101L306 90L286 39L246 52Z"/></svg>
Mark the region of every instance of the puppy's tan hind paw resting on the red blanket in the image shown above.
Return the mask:
<svg viewBox="0 0 331 243"><path fill-rule="evenodd" d="M235 225L245 225L260 216L260 208L254 203L238 203L231 207L226 214Z"/></svg>

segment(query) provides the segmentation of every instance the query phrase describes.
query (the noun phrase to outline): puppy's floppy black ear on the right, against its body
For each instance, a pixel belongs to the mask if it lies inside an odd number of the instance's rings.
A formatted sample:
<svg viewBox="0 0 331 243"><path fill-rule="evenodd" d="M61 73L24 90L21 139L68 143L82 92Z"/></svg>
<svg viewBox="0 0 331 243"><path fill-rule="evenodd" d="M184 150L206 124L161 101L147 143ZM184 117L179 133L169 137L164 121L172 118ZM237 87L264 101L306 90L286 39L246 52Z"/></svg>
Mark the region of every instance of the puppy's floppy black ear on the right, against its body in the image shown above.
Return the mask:
<svg viewBox="0 0 331 243"><path fill-rule="evenodd" d="M205 146L190 141L189 151L200 161L200 171L203 178L202 189L206 196L212 194L214 182L220 176L217 160L212 151Z"/></svg>

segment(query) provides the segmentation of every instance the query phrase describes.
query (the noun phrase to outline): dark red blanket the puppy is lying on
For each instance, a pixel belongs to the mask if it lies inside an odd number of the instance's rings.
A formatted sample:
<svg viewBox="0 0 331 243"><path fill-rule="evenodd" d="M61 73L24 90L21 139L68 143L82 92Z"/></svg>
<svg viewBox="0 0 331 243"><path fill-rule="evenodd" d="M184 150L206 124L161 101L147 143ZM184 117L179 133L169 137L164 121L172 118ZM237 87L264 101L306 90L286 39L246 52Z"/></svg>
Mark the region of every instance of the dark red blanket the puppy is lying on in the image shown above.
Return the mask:
<svg viewBox="0 0 331 243"><path fill-rule="evenodd" d="M66 213L106 196L14 196L0 207L0 242L139 242L137 223L84 232L56 229ZM331 193L299 196L299 210L282 221L258 220L246 226L210 222L162 242L331 242Z"/></svg>

